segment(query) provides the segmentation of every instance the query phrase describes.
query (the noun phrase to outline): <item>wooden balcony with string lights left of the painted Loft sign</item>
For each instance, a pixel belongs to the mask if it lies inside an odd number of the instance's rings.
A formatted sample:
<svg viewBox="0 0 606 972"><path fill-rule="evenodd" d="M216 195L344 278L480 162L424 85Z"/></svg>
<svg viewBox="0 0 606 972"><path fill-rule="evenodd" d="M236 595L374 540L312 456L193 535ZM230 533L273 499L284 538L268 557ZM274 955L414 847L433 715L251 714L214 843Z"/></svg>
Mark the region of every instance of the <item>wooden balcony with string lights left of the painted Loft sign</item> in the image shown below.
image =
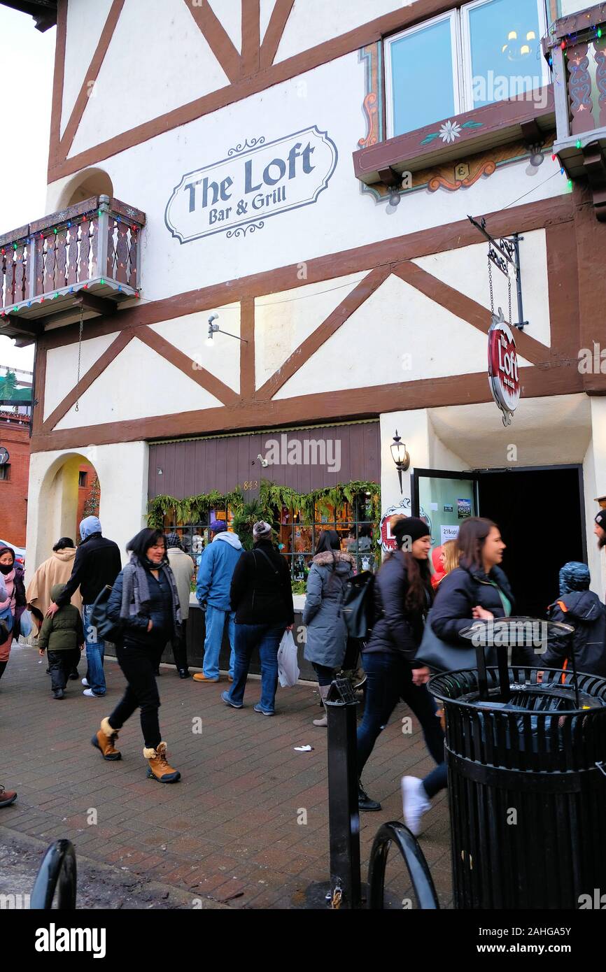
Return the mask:
<svg viewBox="0 0 606 972"><path fill-rule="evenodd" d="M0 333L28 344L138 297L143 226L145 213L99 195L0 236Z"/></svg>

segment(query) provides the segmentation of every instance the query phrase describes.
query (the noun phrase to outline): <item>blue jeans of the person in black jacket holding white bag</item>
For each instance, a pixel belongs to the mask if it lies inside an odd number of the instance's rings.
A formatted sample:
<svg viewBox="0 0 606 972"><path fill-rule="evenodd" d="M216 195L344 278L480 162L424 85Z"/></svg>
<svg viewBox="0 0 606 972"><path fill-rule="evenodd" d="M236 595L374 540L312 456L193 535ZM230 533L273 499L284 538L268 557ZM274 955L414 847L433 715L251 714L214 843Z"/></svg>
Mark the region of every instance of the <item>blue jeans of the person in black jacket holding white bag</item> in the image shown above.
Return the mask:
<svg viewBox="0 0 606 972"><path fill-rule="evenodd" d="M282 641L285 625L236 624L235 625L235 665L230 702L242 704L246 677L255 648L259 648L261 658L261 699L260 706L265 712L275 708L275 690L278 686L278 648Z"/></svg>

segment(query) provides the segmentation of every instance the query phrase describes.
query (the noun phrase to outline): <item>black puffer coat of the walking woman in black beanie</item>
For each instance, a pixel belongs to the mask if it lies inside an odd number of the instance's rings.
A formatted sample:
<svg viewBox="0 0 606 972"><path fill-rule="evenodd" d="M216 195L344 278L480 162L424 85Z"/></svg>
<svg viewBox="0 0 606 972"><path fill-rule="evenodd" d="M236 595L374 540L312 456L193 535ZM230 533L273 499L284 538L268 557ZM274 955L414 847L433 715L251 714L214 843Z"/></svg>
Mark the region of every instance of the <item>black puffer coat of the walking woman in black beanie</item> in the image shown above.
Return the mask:
<svg viewBox="0 0 606 972"><path fill-rule="evenodd" d="M389 554L374 579L373 634L364 653L387 651L404 655L411 668L421 668L414 662L414 655L423 637L423 611L410 611L406 607L409 578L402 551ZM431 592L427 590L427 608L431 605Z"/></svg>

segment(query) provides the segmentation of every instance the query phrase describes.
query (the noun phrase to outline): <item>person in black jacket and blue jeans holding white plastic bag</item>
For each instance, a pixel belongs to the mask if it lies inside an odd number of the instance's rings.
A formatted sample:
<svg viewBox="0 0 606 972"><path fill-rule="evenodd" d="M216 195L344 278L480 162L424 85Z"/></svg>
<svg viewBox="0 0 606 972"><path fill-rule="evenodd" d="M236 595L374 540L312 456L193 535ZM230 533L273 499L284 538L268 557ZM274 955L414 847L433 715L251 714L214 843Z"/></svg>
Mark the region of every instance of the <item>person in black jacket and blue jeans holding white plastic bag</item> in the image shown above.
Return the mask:
<svg viewBox="0 0 606 972"><path fill-rule="evenodd" d="M235 565L230 599L235 611L233 684L222 692L226 706L241 709L246 678L255 648L261 658L261 699L254 707L263 715L275 714L278 684L278 648L285 631L295 622L291 574L284 558L271 543L271 527L261 520L253 527L254 547Z"/></svg>

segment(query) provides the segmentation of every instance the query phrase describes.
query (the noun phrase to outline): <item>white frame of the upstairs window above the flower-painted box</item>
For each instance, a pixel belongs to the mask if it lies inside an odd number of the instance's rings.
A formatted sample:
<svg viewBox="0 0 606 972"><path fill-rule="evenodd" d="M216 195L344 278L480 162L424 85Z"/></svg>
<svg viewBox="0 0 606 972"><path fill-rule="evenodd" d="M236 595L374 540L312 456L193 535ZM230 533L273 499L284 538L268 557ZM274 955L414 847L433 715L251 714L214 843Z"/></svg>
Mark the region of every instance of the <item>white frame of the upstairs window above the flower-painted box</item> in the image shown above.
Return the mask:
<svg viewBox="0 0 606 972"><path fill-rule="evenodd" d="M385 79L385 128L386 128L386 140L392 138L398 138L402 135L407 135L409 132L399 132L397 135L394 131L394 84L393 84L393 64L391 57L392 45L401 40L403 37L412 36L414 33L418 33L424 30L426 27L433 26L440 21L449 19L450 23L450 43L452 51L452 83L453 83L453 93L454 93L454 103L455 110L450 118L452 120L456 119L459 115L464 115L467 112L474 110L480 110L481 107L474 104L473 97L473 84L472 84L472 52L471 52L471 30L470 30L470 19L469 14L472 10L479 7L483 7L492 0L469 0L468 3L460 4L458 7L453 7L451 10L446 11L444 14L440 14L438 17L430 17L428 20L423 20L420 23L415 23L412 27L407 27L405 30L400 30L395 34L391 34L388 37L383 38L383 66L384 66L384 79ZM544 37L548 32L548 15L547 15L547 0L535 0L537 5L537 12L539 15L539 40ZM551 73L545 58L540 58L541 64L541 82L542 86L549 85L551 83ZM488 104L499 104L498 101L488 102ZM420 127L425 127L425 125L438 124L440 121L445 121L445 119L435 119L434 121L426 121L424 125ZM412 131L416 129L411 129Z"/></svg>

